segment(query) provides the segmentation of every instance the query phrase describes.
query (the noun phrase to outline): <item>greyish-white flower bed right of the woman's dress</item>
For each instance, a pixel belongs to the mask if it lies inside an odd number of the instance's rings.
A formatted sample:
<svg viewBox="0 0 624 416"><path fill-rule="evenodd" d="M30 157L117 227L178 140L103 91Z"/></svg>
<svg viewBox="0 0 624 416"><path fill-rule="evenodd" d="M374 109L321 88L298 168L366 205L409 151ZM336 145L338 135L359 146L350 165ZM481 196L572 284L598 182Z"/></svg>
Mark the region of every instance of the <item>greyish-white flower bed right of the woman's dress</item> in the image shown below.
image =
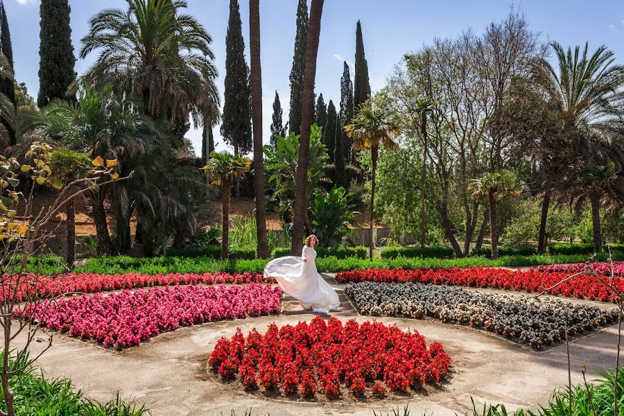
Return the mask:
<svg viewBox="0 0 624 416"><path fill-rule="evenodd" d="M528 344L535 349L558 343L570 335L593 331L617 320L617 309L573 304L553 298L467 291L447 286L395 284L366 281L349 284L345 292L360 313L366 315L407 316L420 319L431 316L455 324L468 325L497 333ZM438 345L429 352L437 354ZM389 372L390 388L399 390L410 377L421 374ZM434 374L435 375L435 374Z"/></svg>

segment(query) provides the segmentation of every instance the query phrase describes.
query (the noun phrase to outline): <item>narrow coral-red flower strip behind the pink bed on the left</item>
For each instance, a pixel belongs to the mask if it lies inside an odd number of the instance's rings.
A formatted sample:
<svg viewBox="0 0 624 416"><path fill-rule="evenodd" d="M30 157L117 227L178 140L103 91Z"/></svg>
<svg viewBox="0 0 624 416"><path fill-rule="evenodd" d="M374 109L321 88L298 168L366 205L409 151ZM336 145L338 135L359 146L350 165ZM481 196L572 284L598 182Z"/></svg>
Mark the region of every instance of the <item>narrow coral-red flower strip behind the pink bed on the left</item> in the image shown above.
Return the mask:
<svg viewBox="0 0 624 416"><path fill-rule="evenodd" d="M26 279L26 278L24 278ZM99 273L67 273L64 275L41 276L36 285L20 284L19 300L26 297L55 297L64 293L99 293L122 289L147 288L152 286L175 286L189 284L246 284L274 283L265 279L262 273L166 273L145 275L124 273L123 275L101 275Z"/></svg>

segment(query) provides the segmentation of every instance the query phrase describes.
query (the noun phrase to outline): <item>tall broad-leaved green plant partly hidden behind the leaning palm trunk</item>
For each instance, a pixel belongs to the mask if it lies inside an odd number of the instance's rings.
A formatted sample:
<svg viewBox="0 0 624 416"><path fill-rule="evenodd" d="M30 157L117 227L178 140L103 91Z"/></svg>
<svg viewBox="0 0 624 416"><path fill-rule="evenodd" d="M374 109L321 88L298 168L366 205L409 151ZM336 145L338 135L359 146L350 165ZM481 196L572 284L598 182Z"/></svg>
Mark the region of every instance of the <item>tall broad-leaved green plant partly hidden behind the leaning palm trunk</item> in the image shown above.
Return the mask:
<svg viewBox="0 0 624 416"><path fill-rule="evenodd" d="M311 201L314 192L325 177L327 163L327 148L320 141L321 131L313 124L310 132L310 147L306 180L306 200ZM299 163L300 136L291 133L288 137L277 136L275 147L264 146L266 156L266 171L269 182L275 189L274 197L279 202L281 218L287 223L293 219L293 201L295 199L295 184L297 164ZM306 222L309 223L306 216ZM309 225L309 224L308 224ZM309 230L311 231L310 227Z"/></svg>

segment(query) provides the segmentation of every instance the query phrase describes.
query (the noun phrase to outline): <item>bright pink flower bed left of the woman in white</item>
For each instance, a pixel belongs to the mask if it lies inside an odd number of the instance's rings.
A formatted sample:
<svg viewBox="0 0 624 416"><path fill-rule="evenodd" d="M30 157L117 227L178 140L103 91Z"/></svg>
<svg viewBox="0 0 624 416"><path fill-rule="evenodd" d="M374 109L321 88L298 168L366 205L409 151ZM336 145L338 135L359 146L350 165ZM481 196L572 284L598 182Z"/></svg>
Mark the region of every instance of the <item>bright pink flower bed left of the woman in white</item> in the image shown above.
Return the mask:
<svg viewBox="0 0 624 416"><path fill-rule="evenodd" d="M73 296L17 310L15 315L107 348L122 349L179 327L277 314L280 297L280 288L261 284L175 286ZM237 370L238 366L232 366L231 375Z"/></svg>

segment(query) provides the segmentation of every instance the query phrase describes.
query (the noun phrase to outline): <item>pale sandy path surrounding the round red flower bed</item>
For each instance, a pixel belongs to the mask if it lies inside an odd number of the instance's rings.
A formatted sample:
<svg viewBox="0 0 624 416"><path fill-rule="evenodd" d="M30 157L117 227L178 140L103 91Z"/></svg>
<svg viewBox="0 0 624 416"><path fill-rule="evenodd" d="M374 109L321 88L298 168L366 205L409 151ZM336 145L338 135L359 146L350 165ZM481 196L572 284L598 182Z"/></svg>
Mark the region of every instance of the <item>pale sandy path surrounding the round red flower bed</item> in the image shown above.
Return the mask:
<svg viewBox="0 0 624 416"><path fill-rule="evenodd" d="M363 322L342 292L343 306L333 316L346 321ZM589 302L588 302L589 303ZM595 303L598 304L598 303ZM599 304L600 305L600 304ZM607 305L601 304L602 307ZM463 415L471 407L471 397L480 406L503 403L508 410L536 408L546 404L558 386L567 383L566 347L560 345L546 352L526 347L467 327L435 321L378 318L401 329L417 329L428 342L440 341L453 358L454 374L440 388L417 392L412 397L385 401L355 401L343 390L344 400L305 403L266 397L261 392L246 393L239 386L223 384L206 371L206 361L221 336L232 336L236 327L243 333L256 327L263 332L271 322L278 325L310 320L315 315L301 311L291 298L284 300L279 316L202 324L164 333L148 343L114 352L63 335L54 337L53 346L39 360L46 377L69 378L88 397L107 401L117 390L127 400L146 404L155 416L169 415L366 415L373 410L383 414L397 406L410 405L413 415ZM573 340L570 343L572 381L582 381L580 365L587 364L589 374L613 367L616 327L610 327ZM17 340L19 345L20 340ZM16 345L16 346L17 346ZM42 345L31 346L36 352ZM591 378L591 376L590 376Z"/></svg>

